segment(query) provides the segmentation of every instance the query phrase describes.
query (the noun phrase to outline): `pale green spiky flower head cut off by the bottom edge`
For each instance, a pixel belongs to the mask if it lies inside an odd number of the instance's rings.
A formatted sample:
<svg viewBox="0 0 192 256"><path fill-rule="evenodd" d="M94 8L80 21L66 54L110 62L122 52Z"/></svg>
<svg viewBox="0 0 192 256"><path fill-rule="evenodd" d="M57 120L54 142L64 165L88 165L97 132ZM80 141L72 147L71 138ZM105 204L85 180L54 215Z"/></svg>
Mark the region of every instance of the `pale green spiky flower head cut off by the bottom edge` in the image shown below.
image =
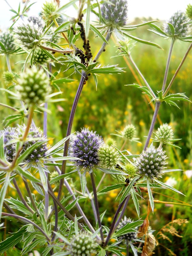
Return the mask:
<svg viewBox="0 0 192 256"><path fill-rule="evenodd" d="M96 243L86 232L80 232L71 238L68 251L70 256L90 256L95 253Z"/></svg>

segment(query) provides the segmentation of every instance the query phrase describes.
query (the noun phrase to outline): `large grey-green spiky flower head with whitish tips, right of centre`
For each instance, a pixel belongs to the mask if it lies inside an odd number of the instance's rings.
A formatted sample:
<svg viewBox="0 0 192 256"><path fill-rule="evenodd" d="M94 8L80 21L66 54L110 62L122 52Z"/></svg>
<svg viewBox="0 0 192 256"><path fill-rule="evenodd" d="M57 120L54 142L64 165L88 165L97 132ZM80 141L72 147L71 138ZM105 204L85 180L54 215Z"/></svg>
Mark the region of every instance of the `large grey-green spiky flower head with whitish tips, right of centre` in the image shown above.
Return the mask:
<svg viewBox="0 0 192 256"><path fill-rule="evenodd" d="M154 146L143 150L139 157L136 158L135 166L138 169L138 174L144 176L146 179L154 180L161 178L163 171L167 165L165 160L167 156L162 148L155 148Z"/></svg>

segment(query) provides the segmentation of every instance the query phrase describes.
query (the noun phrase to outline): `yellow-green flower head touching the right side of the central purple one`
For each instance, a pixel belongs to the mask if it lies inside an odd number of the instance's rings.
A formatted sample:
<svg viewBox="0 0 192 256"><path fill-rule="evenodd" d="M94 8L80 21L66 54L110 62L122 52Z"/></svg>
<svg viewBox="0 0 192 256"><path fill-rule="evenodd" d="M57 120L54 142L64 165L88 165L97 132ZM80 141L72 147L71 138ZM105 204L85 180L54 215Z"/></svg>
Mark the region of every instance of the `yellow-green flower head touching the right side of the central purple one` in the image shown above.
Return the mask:
<svg viewBox="0 0 192 256"><path fill-rule="evenodd" d="M121 156L115 148L103 144L98 149L98 159L103 168L115 169L115 166L121 161Z"/></svg>

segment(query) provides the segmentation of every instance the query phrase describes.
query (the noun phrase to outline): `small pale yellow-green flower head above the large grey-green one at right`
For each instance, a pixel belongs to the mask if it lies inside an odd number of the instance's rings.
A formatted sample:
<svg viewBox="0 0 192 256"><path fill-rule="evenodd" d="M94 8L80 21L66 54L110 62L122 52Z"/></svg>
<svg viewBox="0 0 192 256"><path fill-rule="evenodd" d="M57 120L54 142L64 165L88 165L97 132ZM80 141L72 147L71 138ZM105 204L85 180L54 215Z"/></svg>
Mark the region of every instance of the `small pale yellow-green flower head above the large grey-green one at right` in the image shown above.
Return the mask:
<svg viewBox="0 0 192 256"><path fill-rule="evenodd" d="M173 139L172 127L168 124L161 125L155 133L155 141L168 144Z"/></svg>

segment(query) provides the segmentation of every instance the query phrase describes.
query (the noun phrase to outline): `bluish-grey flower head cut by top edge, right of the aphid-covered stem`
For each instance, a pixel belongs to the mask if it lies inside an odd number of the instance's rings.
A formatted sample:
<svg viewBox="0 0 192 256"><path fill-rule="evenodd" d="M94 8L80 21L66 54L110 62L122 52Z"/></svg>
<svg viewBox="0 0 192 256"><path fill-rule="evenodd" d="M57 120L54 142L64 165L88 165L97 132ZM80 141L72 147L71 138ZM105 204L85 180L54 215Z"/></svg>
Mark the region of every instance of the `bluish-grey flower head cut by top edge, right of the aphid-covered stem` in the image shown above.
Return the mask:
<svg viewBox="0 0 192 256"><path fill-rule="evenodd" d="M110 0L110 3L104 3L101 6L101 14L106 25L118 28L126 25L127 21L127 1Z"/></svg>

